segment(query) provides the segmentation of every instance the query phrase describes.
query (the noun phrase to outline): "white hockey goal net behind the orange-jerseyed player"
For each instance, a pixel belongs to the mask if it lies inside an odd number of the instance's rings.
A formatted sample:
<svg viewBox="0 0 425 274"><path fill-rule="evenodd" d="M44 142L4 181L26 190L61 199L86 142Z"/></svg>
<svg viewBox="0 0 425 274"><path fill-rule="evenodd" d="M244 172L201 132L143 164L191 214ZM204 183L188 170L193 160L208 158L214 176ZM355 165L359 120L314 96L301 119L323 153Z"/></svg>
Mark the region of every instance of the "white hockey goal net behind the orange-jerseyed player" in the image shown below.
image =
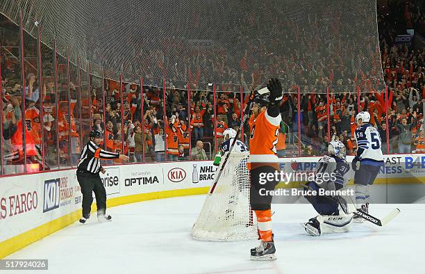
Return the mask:
<svg viewBox="0 0 425 274"><path fill-rule="evenodd" d="M232 152L213 193L206 200L192 228L200 241L239 241L258 239L256 220L249 205L249 152ZM223 158L224 159L224 158ZM223 159L217 168L222 168Z"/></svg>

